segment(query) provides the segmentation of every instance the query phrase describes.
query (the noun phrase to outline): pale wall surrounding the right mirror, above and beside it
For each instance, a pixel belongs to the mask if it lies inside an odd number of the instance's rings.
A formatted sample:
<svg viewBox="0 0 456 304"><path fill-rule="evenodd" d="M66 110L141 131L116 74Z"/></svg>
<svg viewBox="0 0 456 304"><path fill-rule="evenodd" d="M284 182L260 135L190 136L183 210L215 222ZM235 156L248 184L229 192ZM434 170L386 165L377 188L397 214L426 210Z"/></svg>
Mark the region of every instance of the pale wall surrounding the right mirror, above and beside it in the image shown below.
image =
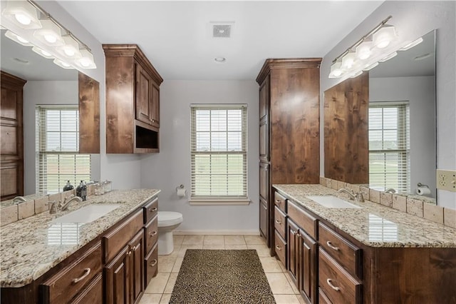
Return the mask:
<svg viewBox="0 0 456 304"><path fill-rule="evenodd" d="M343 38L326 56L321 64L321 100L323 92L341 79L328 78L331 62L349 46L361 39L387 16L393 16L393 24L400 39L413 41L437 29L437 168L456 170L456 24L455 1L385 1L356 29ZM336 41L335 41L336 43ZM321 103L323 113L323 103ZM321 134L323 134L321 119ZM321 138L323 147L323 136ZM321 172L324 172L323 148L321 149ZM437 191L440 206L456 209L456 193Z"/></svg>

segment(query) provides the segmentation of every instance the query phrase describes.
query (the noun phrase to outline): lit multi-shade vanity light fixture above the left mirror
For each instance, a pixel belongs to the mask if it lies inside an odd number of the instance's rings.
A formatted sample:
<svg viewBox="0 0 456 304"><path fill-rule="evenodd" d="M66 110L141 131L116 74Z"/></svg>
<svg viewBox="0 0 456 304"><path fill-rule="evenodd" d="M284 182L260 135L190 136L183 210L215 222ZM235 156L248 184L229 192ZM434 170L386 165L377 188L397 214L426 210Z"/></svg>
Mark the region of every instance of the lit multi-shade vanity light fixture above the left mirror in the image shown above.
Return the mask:
<svg viewBox="0 0 456 304"><path fill-rule="evenodd" d="M6 9L1 11L0 21L3 28L14 34L5 34L10 39L33 46L32 51L47 59L55 59L53 62L64 69L96 69L88 46L33 0L3 2L6 2ZM16 36L21 37L21 40ZM24 41L28 41L28 44Z"/></svg>

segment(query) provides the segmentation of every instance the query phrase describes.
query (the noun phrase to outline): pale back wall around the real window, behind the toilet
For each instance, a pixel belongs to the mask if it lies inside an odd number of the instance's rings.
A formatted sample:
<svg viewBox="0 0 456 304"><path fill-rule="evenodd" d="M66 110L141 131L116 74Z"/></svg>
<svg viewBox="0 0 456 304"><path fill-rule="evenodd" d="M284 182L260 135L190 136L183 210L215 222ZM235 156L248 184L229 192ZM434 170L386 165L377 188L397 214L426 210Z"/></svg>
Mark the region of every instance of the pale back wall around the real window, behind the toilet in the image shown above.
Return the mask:
<svg viewBox="0 0 456 304"><path fill-rule="evenodd" d="M160 211L182 213L180 231L259 233L258 84L249 81L164 81L160 86L160 153L142 156L141 186L159 188ZM178 198L183 184L190 192L190 104L247 103L249 206L190 206Z"/></svg>

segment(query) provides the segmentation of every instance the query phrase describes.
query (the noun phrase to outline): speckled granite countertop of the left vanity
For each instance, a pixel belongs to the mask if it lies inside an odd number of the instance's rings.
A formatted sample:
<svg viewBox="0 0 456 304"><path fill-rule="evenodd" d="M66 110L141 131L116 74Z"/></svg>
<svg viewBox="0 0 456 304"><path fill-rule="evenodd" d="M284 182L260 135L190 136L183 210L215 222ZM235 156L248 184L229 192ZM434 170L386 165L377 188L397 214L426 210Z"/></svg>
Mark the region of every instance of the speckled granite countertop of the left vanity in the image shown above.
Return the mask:
<svg viewBox="0 0 456 304"><path fill-rule="evenodd" d="M31 283L158 193L160 190L155 189L111 191L90 196L83 203L73 202L68 211L43 212L1 227L0 286ZM119 207L90 223L52 223L57 217L93 204Z"/></svg>

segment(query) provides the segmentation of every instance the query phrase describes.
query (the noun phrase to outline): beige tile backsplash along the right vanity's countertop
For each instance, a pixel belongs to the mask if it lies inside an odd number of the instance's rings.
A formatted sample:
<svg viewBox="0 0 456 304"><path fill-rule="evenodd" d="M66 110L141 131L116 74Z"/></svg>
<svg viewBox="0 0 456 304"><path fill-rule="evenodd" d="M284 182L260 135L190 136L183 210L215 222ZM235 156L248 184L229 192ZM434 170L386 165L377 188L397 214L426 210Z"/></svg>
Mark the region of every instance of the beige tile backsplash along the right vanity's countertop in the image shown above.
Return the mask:
<svg viewBox="0 0 456 304"><path fill-rule="evenodd" d="M429 221L456 228L456 210L435 205L432 198L425 196L404 196L395 193L385 193L368 188L367 186L352 185L331 178L320 177L320 184L338 190L352 189L355 193L363 193L364 199L385 207L412 214Z"/></svg>

